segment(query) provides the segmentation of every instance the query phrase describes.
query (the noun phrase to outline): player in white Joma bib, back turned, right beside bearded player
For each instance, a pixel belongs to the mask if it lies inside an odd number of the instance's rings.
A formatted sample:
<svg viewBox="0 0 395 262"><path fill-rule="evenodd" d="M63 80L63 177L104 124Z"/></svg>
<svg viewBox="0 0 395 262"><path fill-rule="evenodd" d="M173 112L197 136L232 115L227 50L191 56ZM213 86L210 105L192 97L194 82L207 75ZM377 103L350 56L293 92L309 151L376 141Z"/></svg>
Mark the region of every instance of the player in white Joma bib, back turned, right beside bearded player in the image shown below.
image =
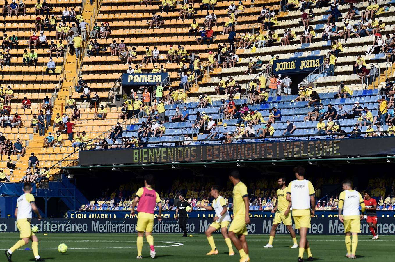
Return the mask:
<svg viewBox="0 0 395 262"><path fill-rule="evenodd" d="M295 229L299 229L299 256L297 261L303 260L303 253L306 251L307 261L313 261L313 255L310 251L310 245L307 240L307 230L311 227L310 214L315 215L315 190L312 183L305 179L305 168L297 166L293 169L296 180L288 184L287 200L291 202L292 217L295 221ZM311 207L311 211L310 211Z"/></svg>

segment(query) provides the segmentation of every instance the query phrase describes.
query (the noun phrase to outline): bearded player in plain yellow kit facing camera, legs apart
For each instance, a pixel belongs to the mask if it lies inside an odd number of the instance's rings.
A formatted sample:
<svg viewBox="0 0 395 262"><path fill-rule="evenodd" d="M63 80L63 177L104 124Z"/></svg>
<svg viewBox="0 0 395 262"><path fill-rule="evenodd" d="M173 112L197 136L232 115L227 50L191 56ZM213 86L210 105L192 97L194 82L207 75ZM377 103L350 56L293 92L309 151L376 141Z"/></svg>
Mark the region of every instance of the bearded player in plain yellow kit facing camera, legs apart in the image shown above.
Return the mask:
<svg viewBox="0 0 395 262"><path fill-rule="evenodd" d="M273 220L273 225L270 230L270 236L269 236L269 243L265 245L265 248L272 248L273 247L273 239L276 236L276 230L278 225L282 222L288 229L288 231L291 234L292 240L293 240L293 245L290 246L291 248L297 248L297 241L296 241L296 236L295 236L295 231L293 231L292 228L292 218L291 218L291 202L287 201L287 191L288 187L285 185L286 179L285 177L281 177L278 179L278 185L280 188L277 189L277 202L273 210L271 211L272 213L276 213L274 220Z"/></svg>

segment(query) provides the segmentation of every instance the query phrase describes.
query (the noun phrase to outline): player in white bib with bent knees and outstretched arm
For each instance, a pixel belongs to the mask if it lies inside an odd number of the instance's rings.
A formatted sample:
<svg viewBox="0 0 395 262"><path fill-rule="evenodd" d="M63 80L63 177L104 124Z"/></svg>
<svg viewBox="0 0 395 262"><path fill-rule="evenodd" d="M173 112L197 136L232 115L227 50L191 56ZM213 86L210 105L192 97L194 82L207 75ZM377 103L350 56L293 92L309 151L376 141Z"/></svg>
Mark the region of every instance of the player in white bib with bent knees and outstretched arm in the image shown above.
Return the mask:
<svg viewBox="0 0 395 262"><path fill-rule="evenodd" d="M207 228L206 230L207 240L209 241L209 244L211 246L211 251L206 255L218 254L218 250L216 249L214 243L214 237L211 234L213 234L213 232L221 228L221 234L224 237L225 243L226 245L228 245L229 248L229 256L233 256L235 252L233 251L232 248L232 241L228 237L228 226L230 224L231 219L230 219L228 208L226 206L225 198L220 196L219 186L212 186L210 193L211 196L213 196L214 198L213 203L211 203L211 206L198 205L198 207L202 207L207 210L214 209L215 211L214 222L211 223L209 228Z"/></svg>

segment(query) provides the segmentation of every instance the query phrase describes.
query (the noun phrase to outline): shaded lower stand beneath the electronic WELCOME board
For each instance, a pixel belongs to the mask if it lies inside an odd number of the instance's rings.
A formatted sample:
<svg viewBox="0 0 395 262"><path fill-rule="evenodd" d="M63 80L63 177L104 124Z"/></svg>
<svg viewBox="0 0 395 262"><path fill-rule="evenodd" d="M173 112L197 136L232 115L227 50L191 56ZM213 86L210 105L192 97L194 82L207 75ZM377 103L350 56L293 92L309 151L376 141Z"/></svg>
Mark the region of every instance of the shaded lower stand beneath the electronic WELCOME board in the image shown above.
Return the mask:
<svg viewBox="0 0 395 262"><path fill-rule="evenodd" d="M180 194L184 194L186 200L190 202L193 210L199 210L198 205L201 202L209 205L213 198L210 195L210 187L214 185L214 181L210 179L190 179L185 177L175 177L171 187L164 187L158 190L162 205L165 210L175 209L175 201ZM339 202L340 188L333 191L332 194L321 196L321 188L325 185L339 185L339 177L333 175L327 179L324 177L310 177L314 185L316 185L316 210L336 210ZM259 181L249 179L248 194L250 198L250 210L267 210L272 209L277 201L276 190L278 189L277 178L261 179ZM371 178L359 190L361 194L365 190L371 190L372 197L376 199L377 209L393 209L395 205L395 195L393 191L393 179L385 177ZM162 186L163 187L163 186ZM90 203L82 205L80 210L130 210L131 203L135 198L135 193L139 188L139 183L131 181L124 183L117 188L102 190L102 195ZM220 194L227 201L228 209L233 208L232 185L227 183L223 185ZM207 202L207 203L206 203ZM203 209L202 209L203 210Z"/></svg>

